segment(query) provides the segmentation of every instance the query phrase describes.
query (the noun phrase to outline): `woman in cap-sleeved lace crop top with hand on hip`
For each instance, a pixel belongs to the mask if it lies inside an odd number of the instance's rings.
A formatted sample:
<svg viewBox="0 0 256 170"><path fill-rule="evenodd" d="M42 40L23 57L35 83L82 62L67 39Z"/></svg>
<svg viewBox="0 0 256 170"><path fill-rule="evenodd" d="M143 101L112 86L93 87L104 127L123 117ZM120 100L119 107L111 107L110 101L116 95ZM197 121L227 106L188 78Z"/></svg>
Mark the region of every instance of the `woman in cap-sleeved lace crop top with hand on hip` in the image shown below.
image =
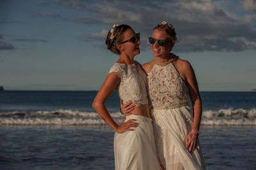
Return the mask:
<svg viewBox="0 0 256 170"><path fill-rule="evenodd" d="M134 57L140 54L140 33L134 33L130 26L124 24L114 25L108 33L106 45L120 56L110 68L92 105L115 130L115 169L161 169L148 107L147 77L141 65L134 61ZM111 118L104 105L114 89L124 102L131 100L136 105L121 125Z"/></svg>

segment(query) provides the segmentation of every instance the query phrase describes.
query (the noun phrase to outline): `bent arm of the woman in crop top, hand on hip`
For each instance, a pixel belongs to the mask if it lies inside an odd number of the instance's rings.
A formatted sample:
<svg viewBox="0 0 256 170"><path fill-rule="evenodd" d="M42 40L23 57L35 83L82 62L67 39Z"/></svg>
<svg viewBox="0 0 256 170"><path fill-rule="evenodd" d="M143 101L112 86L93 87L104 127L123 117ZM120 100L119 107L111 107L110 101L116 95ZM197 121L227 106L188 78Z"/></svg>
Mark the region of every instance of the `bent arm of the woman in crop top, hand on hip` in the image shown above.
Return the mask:
<svg viewBox="0 0 256 170"><path fill-rule="evenodd" d="M127 130L132 131L131 127L137 127L138 123L135 123L136 120L128 120L123 122L120 126L111 118L108 110L105 106L105 101L111 95L113 89L118 85L120 82L120 78L116 73L109 73L103 82L99 92L97 93L96 97L94 98L92 107L97 111L102 118L115 132L123 133Z"/></svg>

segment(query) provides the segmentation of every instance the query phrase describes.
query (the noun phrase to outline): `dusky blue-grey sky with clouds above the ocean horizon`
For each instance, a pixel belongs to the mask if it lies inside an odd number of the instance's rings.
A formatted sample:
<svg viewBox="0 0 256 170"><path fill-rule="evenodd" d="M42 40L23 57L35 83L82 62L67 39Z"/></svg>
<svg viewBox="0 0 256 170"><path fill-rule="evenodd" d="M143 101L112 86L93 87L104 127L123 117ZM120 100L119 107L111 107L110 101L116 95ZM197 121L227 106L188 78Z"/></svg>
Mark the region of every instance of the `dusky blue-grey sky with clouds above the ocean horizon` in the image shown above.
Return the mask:
<svg viewBox="0 0 256 170"><path fill-rule="evenodd" d="M106 49L113 24L148 36L175 27L172 52L193 66L200 91L256 88L255 0L0 0L0 86L8 90L97 90L118 55Z"/></svg>

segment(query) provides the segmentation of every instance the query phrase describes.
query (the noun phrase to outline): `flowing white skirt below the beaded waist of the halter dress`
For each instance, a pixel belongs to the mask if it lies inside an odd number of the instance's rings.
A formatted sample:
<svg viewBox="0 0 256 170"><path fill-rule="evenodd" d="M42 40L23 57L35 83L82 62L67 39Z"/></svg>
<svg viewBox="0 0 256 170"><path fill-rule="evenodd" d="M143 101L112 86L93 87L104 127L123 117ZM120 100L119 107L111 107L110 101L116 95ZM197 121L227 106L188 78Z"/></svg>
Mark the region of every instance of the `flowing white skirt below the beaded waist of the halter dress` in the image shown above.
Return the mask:
<svg viewBox="0 0 256 170"><path fill-rule="evenodd" d="M151 109L157 156L169 169L205 169L200 144L193 153L186 150L184 141L191 130L192 111L188 106L176 109Z"/></svg>

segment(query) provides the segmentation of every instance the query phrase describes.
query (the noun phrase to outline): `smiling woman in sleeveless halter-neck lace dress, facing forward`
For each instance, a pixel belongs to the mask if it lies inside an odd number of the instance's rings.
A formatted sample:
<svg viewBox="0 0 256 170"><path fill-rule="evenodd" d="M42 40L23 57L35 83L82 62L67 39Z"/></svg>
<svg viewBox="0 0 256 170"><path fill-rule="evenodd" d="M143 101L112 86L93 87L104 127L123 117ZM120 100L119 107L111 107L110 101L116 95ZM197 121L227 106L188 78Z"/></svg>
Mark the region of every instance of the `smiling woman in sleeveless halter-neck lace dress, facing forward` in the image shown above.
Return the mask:
<svg viewBox="0 0 256 170"><path fill-rule="evenodd" d="M143 65L148 78L148 97L157 156L162 169L205 169L198 141L202 102L195 73L188 61L171 61L177 42L175 29L163 21L148 38L154 59ZM189 107L189 99L192 109ZM122 105L122 112L132 105Z"/></svg>

